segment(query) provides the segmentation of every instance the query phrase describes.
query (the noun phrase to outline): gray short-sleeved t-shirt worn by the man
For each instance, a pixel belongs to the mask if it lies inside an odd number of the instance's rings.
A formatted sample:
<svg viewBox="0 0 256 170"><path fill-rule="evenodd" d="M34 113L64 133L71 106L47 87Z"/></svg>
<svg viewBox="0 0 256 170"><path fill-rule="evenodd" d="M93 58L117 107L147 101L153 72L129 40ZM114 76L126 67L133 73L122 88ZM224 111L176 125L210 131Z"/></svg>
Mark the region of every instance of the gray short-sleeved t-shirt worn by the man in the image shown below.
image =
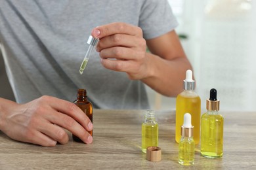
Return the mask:
<svg viewBox="0 0 256 170"><path fill-rule="evenodd" d="M138 25L144 39L177 26L165 0L0 0L1 51L16 101L74 101L85 88L94 108L149 109L144 84L102 67L95 50L79 74L91 30L112 22Z"/></svg>

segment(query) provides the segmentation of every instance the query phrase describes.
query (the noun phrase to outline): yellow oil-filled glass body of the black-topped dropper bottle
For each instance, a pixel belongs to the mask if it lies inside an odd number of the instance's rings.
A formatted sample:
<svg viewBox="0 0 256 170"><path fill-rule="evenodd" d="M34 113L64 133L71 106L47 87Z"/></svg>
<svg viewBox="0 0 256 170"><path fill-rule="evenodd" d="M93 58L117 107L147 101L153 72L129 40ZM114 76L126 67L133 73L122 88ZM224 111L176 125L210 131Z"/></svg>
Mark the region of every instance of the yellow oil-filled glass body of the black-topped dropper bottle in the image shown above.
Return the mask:
<svg viewBox="0 0 256 170"><path fill-rule="evenodd" d="M207 158L223 156L223 116L214 114L214 112L206 112L202 115L201 123L202 156Z"/></svg>

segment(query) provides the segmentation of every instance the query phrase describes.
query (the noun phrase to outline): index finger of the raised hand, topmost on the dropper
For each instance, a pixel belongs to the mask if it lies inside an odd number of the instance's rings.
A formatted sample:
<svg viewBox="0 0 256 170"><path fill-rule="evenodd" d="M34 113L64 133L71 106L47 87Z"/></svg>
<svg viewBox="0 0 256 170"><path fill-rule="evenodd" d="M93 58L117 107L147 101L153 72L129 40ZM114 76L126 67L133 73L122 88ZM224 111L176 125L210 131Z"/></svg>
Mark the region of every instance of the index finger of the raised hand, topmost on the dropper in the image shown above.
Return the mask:
<svg viewBox="0 0 256 170"><path fill-rule="evenodd" d="M127 34L127 35L137 35L142 37L142 30L134 25L129 25L121 22L115 22L107 25L101 25L95 27L91 32L93 37L101 39L102 37L107 37L114 34Z"/></svg>

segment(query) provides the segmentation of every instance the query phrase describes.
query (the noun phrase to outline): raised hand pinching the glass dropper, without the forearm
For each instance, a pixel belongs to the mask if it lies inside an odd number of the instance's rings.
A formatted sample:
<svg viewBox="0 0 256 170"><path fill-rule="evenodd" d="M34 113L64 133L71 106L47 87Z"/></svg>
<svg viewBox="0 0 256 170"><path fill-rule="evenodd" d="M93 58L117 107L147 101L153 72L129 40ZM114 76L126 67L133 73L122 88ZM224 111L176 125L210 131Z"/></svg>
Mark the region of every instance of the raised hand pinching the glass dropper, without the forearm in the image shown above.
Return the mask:
<svg viewBox="0 0 256 170"><path fill-rule="evenodd" d="M100 39L96 51L106 69L126 72L132 80L147 76L146 41L140 27L118 22L96 27L91 34Z"/></svg>

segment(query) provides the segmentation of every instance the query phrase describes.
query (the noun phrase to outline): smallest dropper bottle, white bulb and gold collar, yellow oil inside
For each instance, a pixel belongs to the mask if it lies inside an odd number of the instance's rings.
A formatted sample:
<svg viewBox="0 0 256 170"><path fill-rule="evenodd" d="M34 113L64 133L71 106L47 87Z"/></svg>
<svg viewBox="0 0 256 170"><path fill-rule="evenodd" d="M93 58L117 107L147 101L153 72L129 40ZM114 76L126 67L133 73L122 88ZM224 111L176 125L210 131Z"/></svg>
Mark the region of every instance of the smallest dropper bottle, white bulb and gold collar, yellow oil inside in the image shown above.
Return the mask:
<svg viewBox="0 0 256 170"><path fill-rule="evenodd" d="M185 113L183 125L181 126L181 139L179 141L179 163L181 165L194 164L195 142L193 139L193 128L191 115Z"/></svg>

